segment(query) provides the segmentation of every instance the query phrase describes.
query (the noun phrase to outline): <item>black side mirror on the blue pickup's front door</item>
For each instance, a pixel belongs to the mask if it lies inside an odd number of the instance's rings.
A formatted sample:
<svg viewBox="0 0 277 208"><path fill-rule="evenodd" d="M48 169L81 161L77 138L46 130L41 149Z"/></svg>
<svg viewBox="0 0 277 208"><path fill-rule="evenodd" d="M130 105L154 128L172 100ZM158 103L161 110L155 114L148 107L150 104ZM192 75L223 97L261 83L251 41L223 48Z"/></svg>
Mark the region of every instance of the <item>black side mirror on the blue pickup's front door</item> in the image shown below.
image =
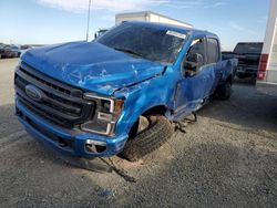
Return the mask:
<svg viewBox="0 0 277 208"><path fill-rule="evenodd" d="M199 72L201 66L204 63L203 55L199 53L194 53L188 55L183 63L183 70L187 76L194 76Z"/></svg>

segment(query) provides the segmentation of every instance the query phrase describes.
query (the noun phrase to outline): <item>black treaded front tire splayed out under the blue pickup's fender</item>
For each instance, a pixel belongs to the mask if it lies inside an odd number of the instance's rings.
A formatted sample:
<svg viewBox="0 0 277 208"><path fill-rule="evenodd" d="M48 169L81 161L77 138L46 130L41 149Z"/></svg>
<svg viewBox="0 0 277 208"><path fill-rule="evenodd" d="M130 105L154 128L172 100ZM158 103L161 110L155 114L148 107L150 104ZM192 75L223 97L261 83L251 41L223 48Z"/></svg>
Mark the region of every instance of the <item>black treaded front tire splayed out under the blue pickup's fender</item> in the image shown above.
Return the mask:
<svg viewBox="0 0 277 208"><path fill-rule="evenodd" d="M121 156L135 162L161 147L174 133L171 122L162 115L150 117L151 127L126 142Z"/></svg>

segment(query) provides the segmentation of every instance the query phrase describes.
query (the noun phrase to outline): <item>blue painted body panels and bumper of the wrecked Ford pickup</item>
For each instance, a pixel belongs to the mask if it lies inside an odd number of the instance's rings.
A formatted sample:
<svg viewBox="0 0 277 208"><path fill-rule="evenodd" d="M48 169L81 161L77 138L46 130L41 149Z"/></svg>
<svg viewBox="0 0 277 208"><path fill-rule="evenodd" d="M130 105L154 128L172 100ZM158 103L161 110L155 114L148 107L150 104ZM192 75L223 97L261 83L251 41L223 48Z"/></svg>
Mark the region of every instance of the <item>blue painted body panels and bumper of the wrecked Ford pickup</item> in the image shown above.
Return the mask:
<svg viewBox="0 0 277 208"><path fill-rule="evenodd" d="M84 157L115 155L123 149L129 131L145 111L155 106L165 106L168 119L179 119L197 111L218 84L233 76L236 60L204 65L201 72L192 77L182 75L182 63L192 41L198 37L218 39L215 34L165 24L141 24L166 28L187 35L173 64L166 65L137 59L95 41L38 48L25 52L21 58L23 62L60 82L100 96L124 98L123 112L117 119L113 137L81 131L72 137L64 129L43 121L17 102L17 107L42 128L62 138L74 139L74 149L59 146L28 122L19 118L25 129L35 138L64 154ZM84 142L89 138L106 142L106 150L88 153Z"/></svg>

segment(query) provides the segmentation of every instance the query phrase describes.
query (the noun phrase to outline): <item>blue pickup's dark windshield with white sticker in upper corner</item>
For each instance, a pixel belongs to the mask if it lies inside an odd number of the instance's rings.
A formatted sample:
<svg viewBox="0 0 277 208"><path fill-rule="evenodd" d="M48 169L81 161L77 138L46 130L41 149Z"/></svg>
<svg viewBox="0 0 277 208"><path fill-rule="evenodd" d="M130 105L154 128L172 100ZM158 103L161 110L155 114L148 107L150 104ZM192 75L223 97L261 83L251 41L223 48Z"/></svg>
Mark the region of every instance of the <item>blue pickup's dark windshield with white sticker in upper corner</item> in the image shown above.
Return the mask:
<svg viewBox="0 0 277 208"><path fill-rule="evenodd" d="M96 41L134 56L173 63L185 38L185 34L175 31L126 22L107 31Z"/></svg>

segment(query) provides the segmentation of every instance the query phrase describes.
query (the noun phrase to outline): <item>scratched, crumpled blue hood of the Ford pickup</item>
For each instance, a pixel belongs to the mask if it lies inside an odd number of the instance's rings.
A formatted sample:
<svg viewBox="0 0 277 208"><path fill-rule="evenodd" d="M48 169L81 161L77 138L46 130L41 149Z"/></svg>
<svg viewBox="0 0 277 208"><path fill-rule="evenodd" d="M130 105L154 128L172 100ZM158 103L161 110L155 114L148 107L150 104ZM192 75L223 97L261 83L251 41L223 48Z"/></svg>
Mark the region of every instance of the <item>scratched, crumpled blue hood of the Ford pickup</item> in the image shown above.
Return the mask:
<svg viewBox="0 0 277 208"><path fill-rule="evenodd" d="M164 65L136 59L98 42L72 42L27 51L22 61L64 83L111 95L162 73Z"/></svg>

